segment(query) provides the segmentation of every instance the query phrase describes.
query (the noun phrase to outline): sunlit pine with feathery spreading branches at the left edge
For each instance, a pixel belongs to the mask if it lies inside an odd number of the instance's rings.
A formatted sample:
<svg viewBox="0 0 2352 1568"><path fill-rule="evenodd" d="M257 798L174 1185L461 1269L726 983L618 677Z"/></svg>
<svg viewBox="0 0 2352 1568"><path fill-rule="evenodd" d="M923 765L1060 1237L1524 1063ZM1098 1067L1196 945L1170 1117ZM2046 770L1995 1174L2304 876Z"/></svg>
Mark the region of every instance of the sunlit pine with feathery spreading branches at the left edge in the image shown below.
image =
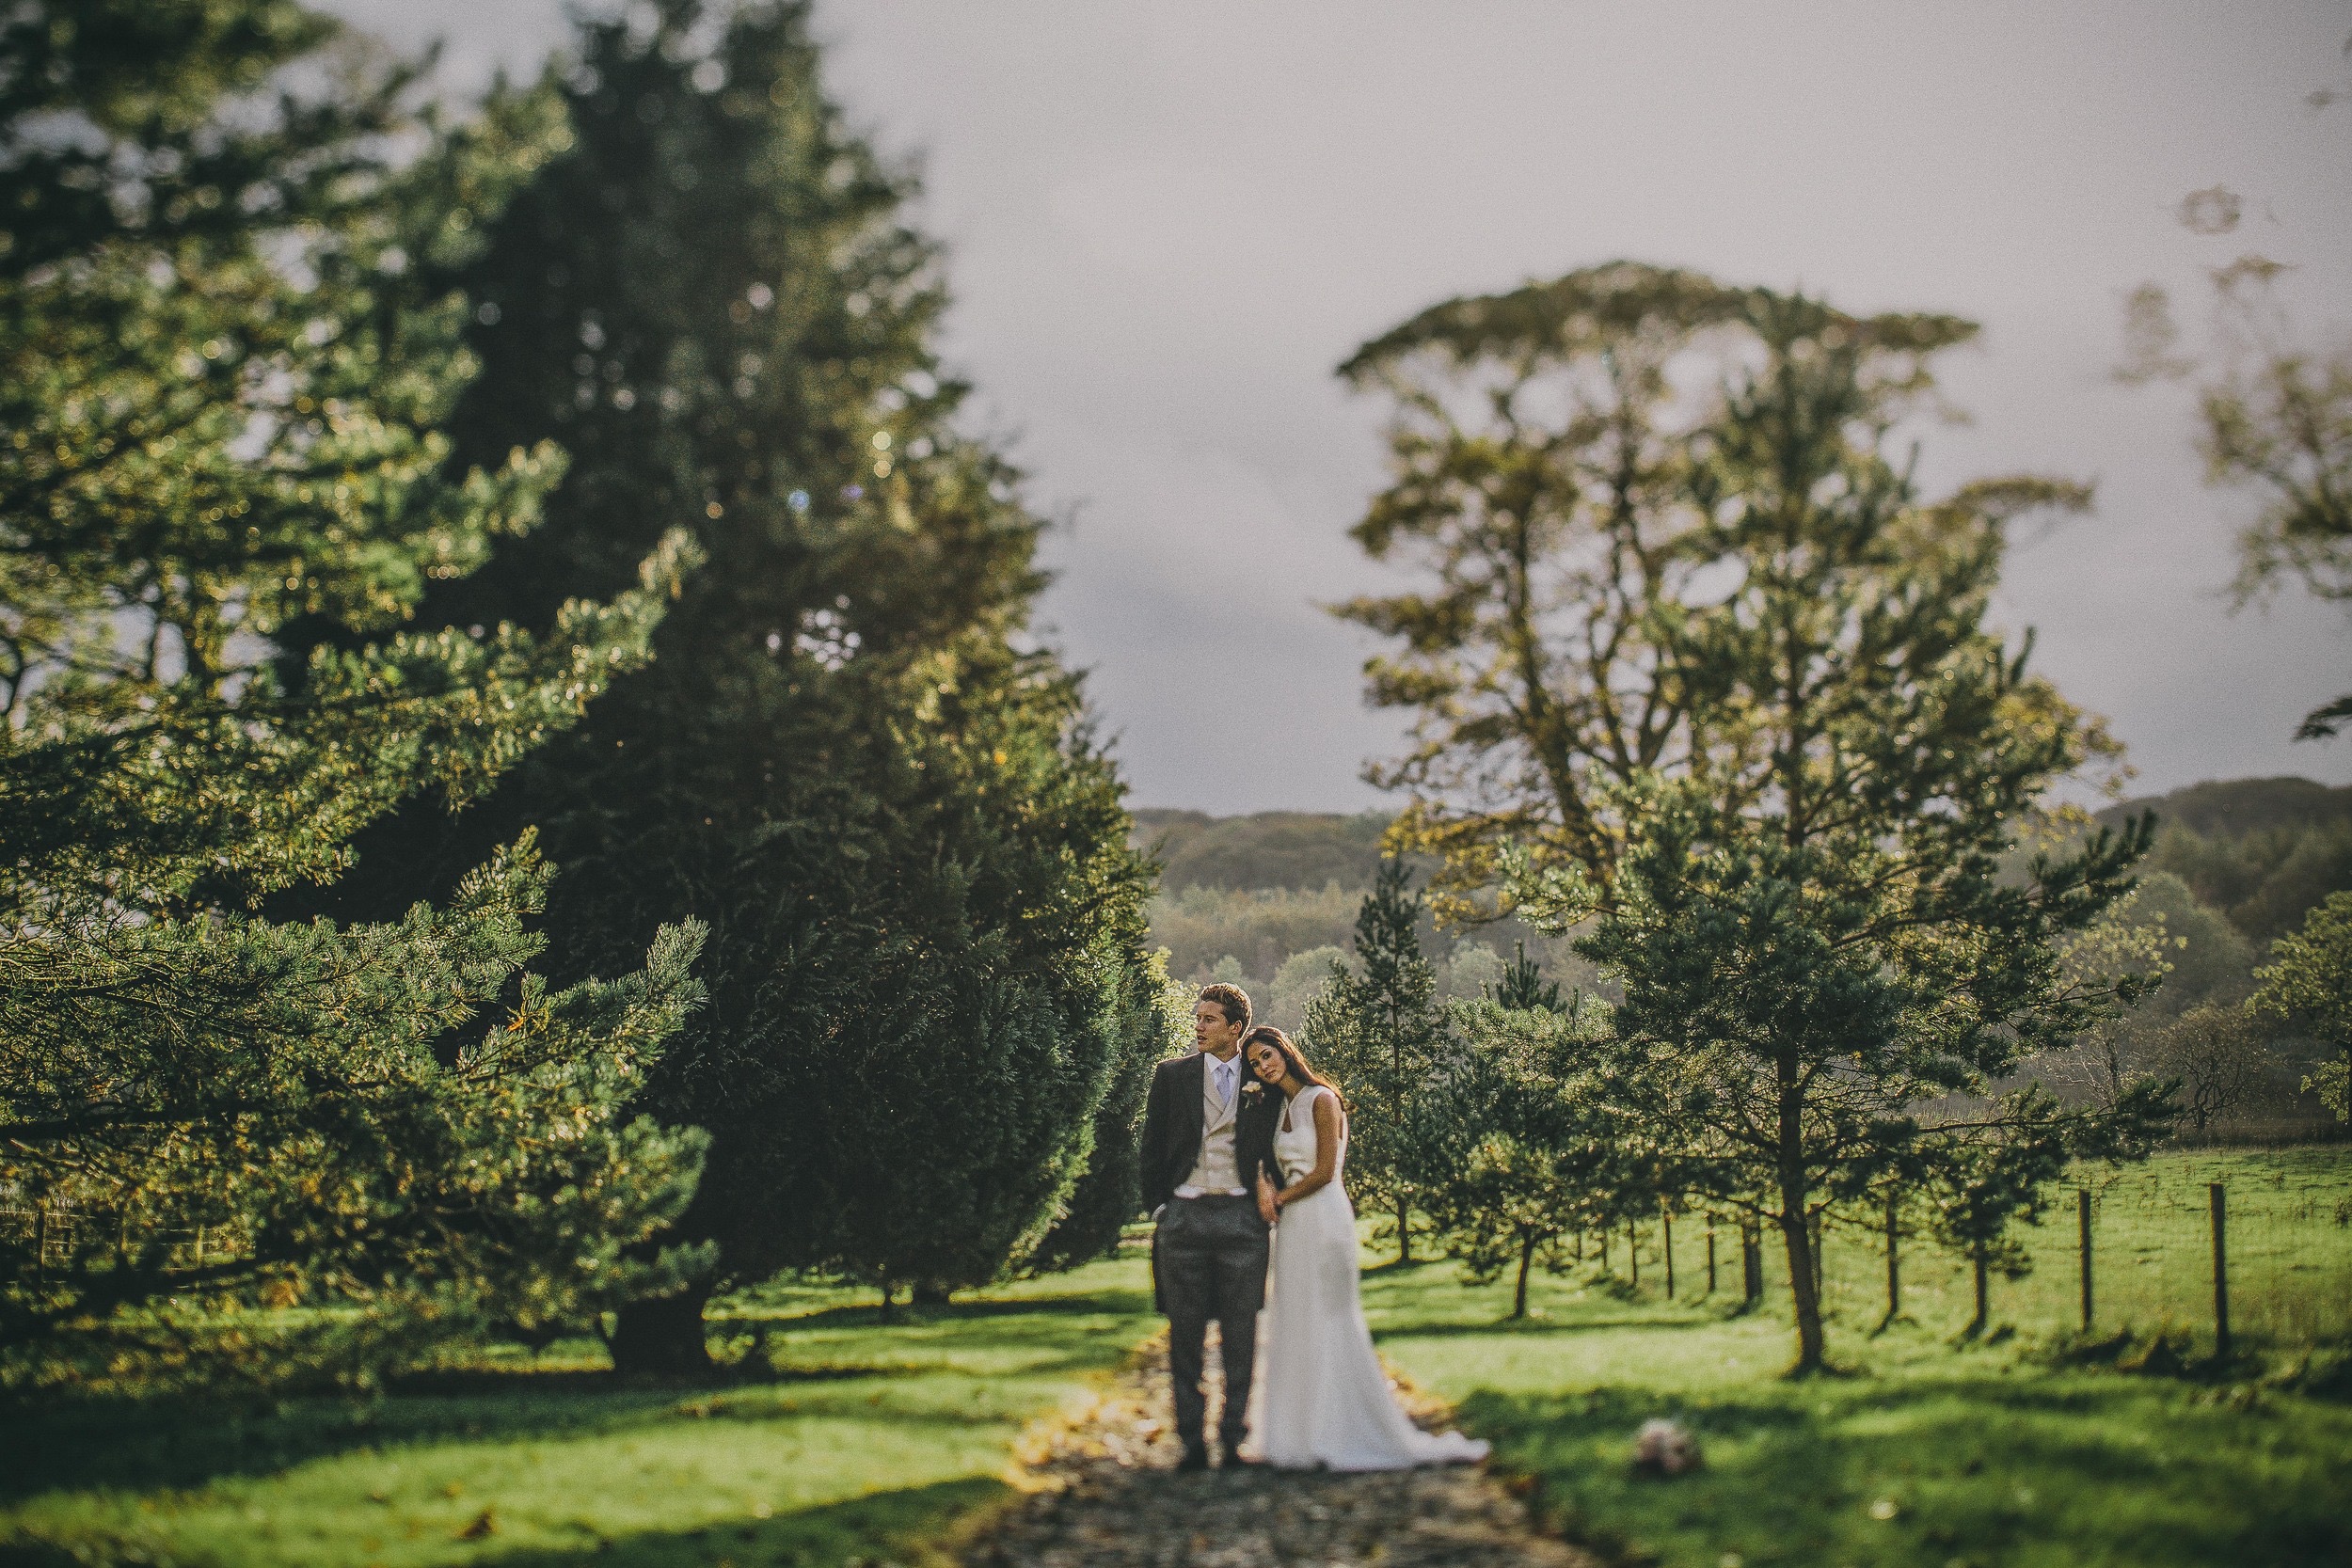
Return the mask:
<svg viewBox="0 0 2352 1568"><path fill-rule="evenodd" d="M419 1333L593 1319L691 1262L623 1248L699 1171L699 1135L626 1114L699 999L694 929L550 990L524 973L529 835L442 907L252 912L339 875L402 797L470 799L574 724L691 564L649 541L637 585L541 635L402 630L560 473L548 447L445 465L466 301L416 263L461 254L562 127L520 99L409 122L407 71L240 101L329 35L268 0L0 24L12 1380L151 1366L209 1302L303 1298L369 1307L336 1352L369 1371ZM393 132L423 139L402 169ZM350 646L280 661L325 611Z"/></svg>

